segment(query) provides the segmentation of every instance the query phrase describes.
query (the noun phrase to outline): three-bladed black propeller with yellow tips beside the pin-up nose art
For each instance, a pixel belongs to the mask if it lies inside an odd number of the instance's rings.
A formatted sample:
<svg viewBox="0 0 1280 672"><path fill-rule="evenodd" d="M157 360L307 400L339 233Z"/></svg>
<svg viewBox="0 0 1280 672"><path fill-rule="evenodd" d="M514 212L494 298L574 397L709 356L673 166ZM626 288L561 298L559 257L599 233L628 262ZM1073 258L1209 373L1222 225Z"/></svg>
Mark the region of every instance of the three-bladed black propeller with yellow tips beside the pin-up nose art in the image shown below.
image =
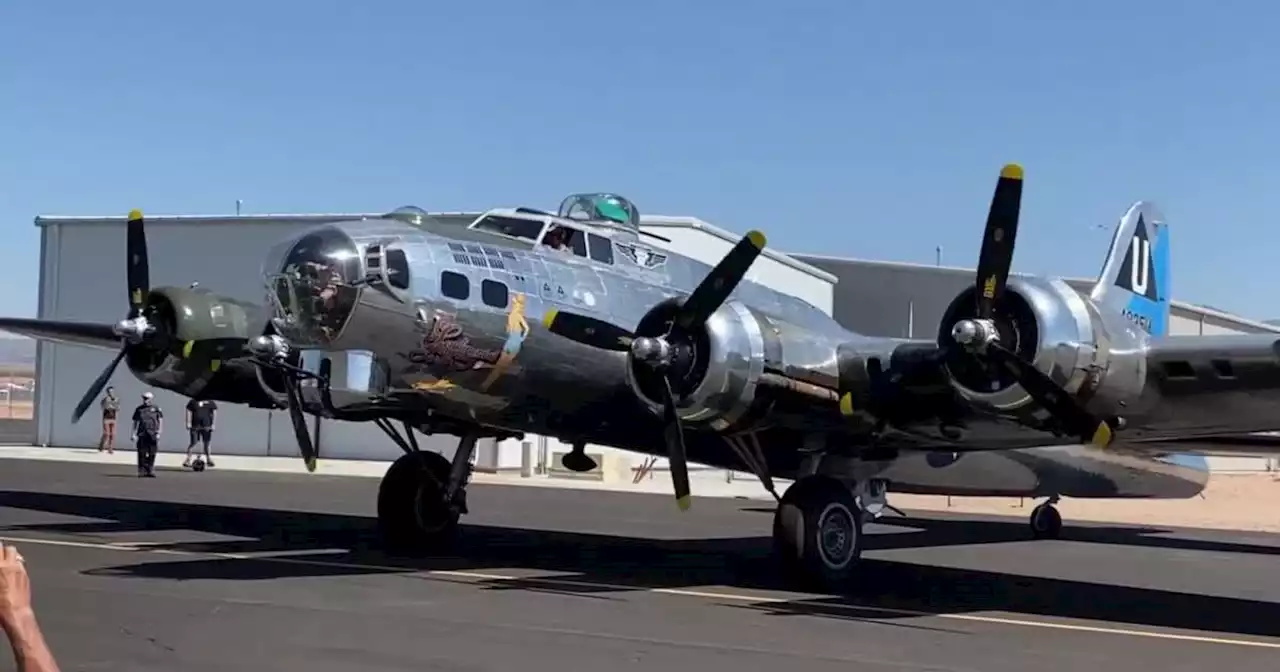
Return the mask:
<svg viewBox="0 0 1280 672"><path fill-rule="evenodd" d="M760 256L764 244L764 234L755 230L739 241L685 298L667 332L660 335L636 335L614 324L556 308L543 317L543 324L549 332L585 346L627 352L634 362L660 376L663 436L667 458L671 461L676 504L681 511L690 506L690 486L685 430L676 411L677 381L689 374L694 364L696 328L710 319L712 314L728 300L733 288L742 282L751 264Z"/></svg>

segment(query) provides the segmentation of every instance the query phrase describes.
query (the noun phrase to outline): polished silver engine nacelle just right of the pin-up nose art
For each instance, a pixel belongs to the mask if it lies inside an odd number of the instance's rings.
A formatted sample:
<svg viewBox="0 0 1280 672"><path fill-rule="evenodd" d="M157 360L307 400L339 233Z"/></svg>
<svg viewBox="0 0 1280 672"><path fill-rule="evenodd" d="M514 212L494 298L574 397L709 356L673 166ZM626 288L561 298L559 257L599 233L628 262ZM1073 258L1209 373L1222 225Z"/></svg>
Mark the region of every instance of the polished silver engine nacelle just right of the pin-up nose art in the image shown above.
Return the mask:
<svg viewBox="0 0 1280 672"><path fill-rule="evenodd" d="M677 307L668 300L649 311L636 335L667 333ZM695 326L692 366L675 381L676 410L689 425L723 430L753 413L756 388L767 361L781 355L777 333L740 301L727 301L701 326ZM643 362L628 360L627 381L654 413L662 415L660 374Z"/></svg>

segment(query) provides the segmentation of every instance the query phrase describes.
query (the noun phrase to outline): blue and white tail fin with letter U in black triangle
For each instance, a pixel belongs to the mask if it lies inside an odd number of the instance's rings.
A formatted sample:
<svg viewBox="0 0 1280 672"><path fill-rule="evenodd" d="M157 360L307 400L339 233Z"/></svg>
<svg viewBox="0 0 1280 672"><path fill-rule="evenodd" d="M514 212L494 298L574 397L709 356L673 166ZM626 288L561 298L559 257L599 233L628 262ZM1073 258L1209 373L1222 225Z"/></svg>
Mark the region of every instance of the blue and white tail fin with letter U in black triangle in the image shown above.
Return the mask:
<svg viewBox="0 0 1280 672"><path fill-rule="evenodd" d="M1120 218L1089 297L1153 337L1169 334L1169 225L1155 204L1138 201Z"/></svg>

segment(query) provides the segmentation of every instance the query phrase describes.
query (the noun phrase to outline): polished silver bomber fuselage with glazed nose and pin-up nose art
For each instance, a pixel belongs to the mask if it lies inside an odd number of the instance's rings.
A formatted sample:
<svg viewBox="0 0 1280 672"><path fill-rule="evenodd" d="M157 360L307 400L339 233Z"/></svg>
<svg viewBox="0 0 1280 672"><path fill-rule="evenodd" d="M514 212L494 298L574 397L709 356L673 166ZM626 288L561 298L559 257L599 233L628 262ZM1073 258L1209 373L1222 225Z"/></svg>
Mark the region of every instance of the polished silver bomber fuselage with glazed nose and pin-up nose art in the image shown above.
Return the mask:
<svg viewBox="0 0 1280 672"><path fill-rule="evenodd" d="M431 230L390 219L320 232L319 238L307 234L311 248L328 237L330 242L320 244L326 253L355 259L343 280L356 287L330 300L337 307L328 312L308 314L302 306L315 301L315 287L276 296L285 297L280 315L294 320L287 335L302 348L303 366L319 370L328 360L335 408L358 413L404 404L513 433L663 454L655 404L646 408L637 401L643 397L626 356L559 338L543 329L540 319L552 308L573 310L634 329L653 306L686 296L709 269L705 264L595 234L586 237L588 255L576 256L486 232ZM274 251L265 266L273 288L280 269L307 256L297 253L307 247L307 236ZM608 246L612 253L595 246ZM620 253L620 247L637 251ZM385 270L362 283L370 248L381 252L374 266ZM389 250L398 251L397 259ZM970 416L957 458L910 451L938 440L932 419L918 433L890 433L876 447L865 445L861 436L869 425L841 416L833 403L829 413L814 412L817 401L764 389L760 376L832 389L842 353L851 347L860 357L890 361L902 342L850 333L818 308L755 283L744 282L733 298L709 325L714 338L732 347L707 362L712 383L681 408L686 420L728 428L689 433L695 462L742 468L735 440L723 438L728 434L755 442L774 476L819 470L891 477L901 492L1192 497L1207 480L1202 461L1103 453L1000 419L974 422ZM308 407L321 407L317 389L303 394ZM796 412L788 416L788 407ZM1018 451L965 454L1002 444ZM823 449L819 463L805 462L806 447Z"/></svg>

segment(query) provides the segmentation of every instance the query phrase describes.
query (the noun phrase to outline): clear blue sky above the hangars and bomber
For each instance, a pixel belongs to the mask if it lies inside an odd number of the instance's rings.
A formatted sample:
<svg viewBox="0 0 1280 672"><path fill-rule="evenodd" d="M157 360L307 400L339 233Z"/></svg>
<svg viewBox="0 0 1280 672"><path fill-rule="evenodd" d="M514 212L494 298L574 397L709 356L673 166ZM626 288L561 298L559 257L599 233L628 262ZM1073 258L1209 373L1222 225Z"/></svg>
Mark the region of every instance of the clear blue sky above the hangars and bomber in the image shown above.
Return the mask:
<svg viewBox="0 0 1280 672"><path fill-rule="evenodd" d="M942 246L969 266L1019 161L1015 270L1093 276L1149 198L1175 298L1280 317L1277 19L1260 1L10 0L0 314L36 312L37 214L237 198L607 189L785 251L932 264Z"/></svg>

